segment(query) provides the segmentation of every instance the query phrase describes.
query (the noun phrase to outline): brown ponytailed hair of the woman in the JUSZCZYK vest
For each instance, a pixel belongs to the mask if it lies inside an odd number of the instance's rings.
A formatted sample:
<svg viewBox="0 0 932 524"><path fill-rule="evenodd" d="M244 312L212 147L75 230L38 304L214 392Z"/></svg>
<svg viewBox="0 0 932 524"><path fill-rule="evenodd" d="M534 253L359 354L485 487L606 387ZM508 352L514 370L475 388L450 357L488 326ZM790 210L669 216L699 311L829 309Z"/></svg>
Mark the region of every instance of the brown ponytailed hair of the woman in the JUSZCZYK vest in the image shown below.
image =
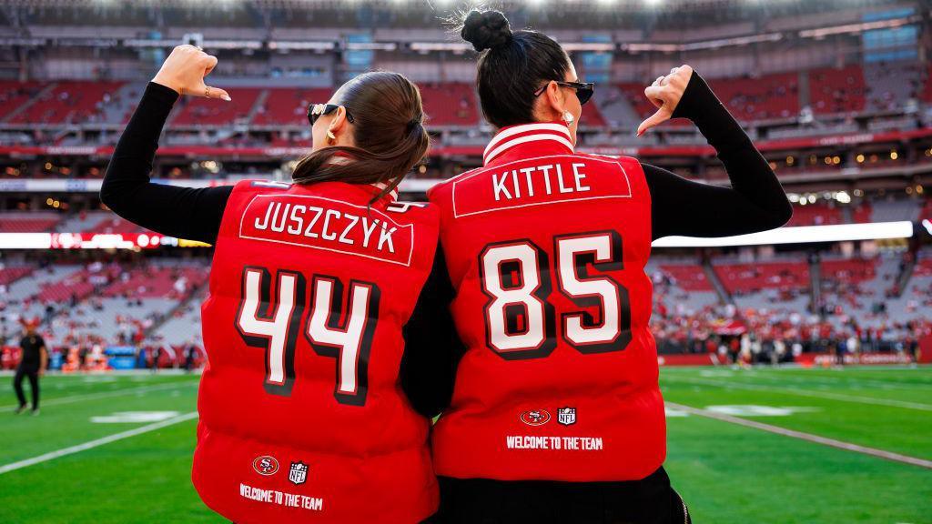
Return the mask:
<svg viewBox="0 0 932 524"><path fill-rule="evenodd" d="M375 202L401 184L427 154L431 138L424 129L420 91L402 75L376 72L349 80L336 95L353 116L355 146L310 153L298 161L292 179L295 184L385 184Z"/></svg>

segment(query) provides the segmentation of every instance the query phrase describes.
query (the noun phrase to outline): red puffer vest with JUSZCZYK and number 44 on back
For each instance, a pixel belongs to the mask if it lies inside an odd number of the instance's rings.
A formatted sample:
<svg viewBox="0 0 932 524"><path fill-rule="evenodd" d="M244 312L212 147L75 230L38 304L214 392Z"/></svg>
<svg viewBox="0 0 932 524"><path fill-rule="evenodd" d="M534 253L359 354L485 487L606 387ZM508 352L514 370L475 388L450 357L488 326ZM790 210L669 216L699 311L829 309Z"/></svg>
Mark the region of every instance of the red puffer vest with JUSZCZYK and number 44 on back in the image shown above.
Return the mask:
<svg viewBox="0 0 932 524"><path fill-rule="evenodd" d="M437 508L429 421L398 380L432 268L427 204L375 186L243 181L202 307L193 480L239 524L419 522Z"/></svg>

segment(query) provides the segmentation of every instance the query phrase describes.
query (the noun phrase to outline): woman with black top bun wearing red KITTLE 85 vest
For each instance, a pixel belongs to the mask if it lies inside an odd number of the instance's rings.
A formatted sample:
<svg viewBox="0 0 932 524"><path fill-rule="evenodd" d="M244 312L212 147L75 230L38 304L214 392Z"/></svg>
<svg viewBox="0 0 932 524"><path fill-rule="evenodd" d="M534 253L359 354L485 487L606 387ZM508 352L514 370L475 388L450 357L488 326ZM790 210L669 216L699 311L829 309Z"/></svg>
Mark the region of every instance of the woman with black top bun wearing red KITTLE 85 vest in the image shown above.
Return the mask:
<svg viewBox="0 0 932 524"><path fill-rule="evenodd" d="M434 426L448 522L688 522L665 473L664 401L651 336L651 241L784 225L786 195L747 134L688 65L644 94L637 135L686 117L731 187L574 150L595 86L545 34L473 10L484 165L435 186L465 350Z"/></svg>

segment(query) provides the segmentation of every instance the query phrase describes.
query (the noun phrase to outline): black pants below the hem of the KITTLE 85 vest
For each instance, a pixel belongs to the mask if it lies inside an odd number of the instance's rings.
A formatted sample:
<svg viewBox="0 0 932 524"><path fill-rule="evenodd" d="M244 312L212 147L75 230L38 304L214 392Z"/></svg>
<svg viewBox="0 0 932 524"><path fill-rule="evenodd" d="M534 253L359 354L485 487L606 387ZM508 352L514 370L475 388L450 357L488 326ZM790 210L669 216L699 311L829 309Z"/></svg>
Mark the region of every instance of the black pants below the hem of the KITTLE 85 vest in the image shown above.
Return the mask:
<svg viewBox="0 0 932 524"><path fill-rule="evenodd" d="M440 511L450 524L689 524L686 503L664 468L630 482L500 481L440 477Z"/></svg>

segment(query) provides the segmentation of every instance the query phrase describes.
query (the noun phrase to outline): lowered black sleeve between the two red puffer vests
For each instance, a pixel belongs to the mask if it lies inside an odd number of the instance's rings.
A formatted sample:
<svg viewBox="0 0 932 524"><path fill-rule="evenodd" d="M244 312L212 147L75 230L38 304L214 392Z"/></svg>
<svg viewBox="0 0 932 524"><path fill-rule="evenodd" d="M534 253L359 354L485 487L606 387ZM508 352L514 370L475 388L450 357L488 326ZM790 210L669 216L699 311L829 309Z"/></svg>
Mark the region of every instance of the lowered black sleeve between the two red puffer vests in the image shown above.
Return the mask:
<svg viewBox="0 0 932 524"><path fill-rule="evenodd" d="M450 302L456 292L446 272L440 245L431 275L421 289L418 304L404 324L404 355L400 371L402 389L411 406L432 418L450 404L459 357L466 348L459 340Z"/></svg>

